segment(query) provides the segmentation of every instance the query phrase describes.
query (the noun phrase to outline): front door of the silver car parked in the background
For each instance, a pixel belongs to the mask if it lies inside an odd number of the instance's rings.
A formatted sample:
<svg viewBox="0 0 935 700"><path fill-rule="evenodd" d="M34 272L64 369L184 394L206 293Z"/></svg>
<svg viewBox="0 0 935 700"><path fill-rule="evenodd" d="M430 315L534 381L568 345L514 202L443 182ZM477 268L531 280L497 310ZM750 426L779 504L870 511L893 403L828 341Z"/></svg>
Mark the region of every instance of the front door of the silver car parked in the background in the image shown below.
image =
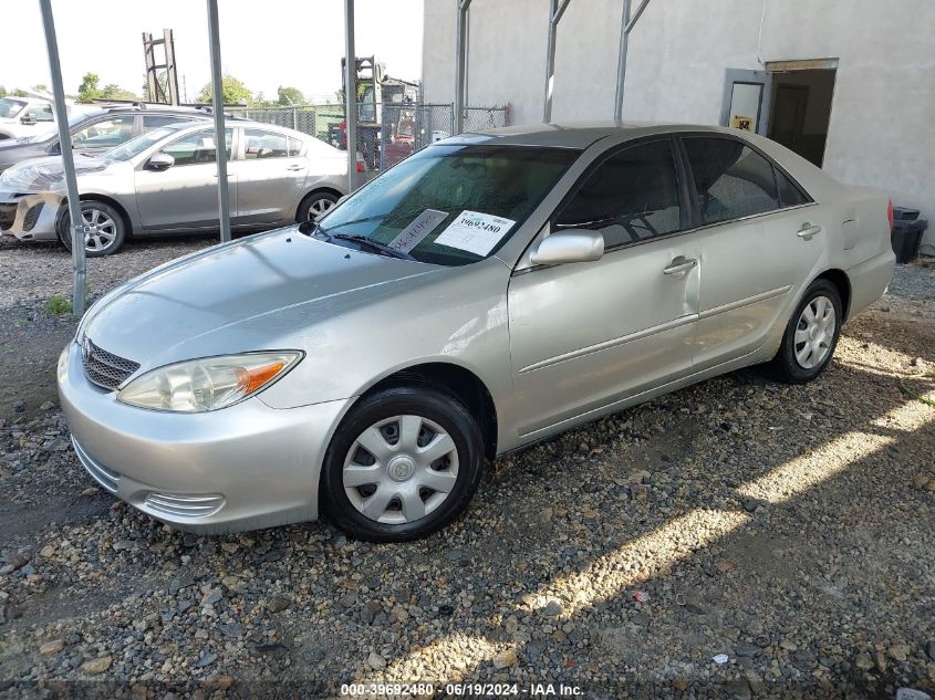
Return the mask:
<svg viewBox="0 0 935 700"><path fill-rule="evenodd" d="M231 129L226 129L230 157ZM139 219L147 231L173 229L216 229L218 227L218 166L215 133L202 129L186 134L160 153L175 158L166 170L150 170L145 164L136 170L136 201ZM228 176L231 209L237 201L237 179Z"/></svg>

